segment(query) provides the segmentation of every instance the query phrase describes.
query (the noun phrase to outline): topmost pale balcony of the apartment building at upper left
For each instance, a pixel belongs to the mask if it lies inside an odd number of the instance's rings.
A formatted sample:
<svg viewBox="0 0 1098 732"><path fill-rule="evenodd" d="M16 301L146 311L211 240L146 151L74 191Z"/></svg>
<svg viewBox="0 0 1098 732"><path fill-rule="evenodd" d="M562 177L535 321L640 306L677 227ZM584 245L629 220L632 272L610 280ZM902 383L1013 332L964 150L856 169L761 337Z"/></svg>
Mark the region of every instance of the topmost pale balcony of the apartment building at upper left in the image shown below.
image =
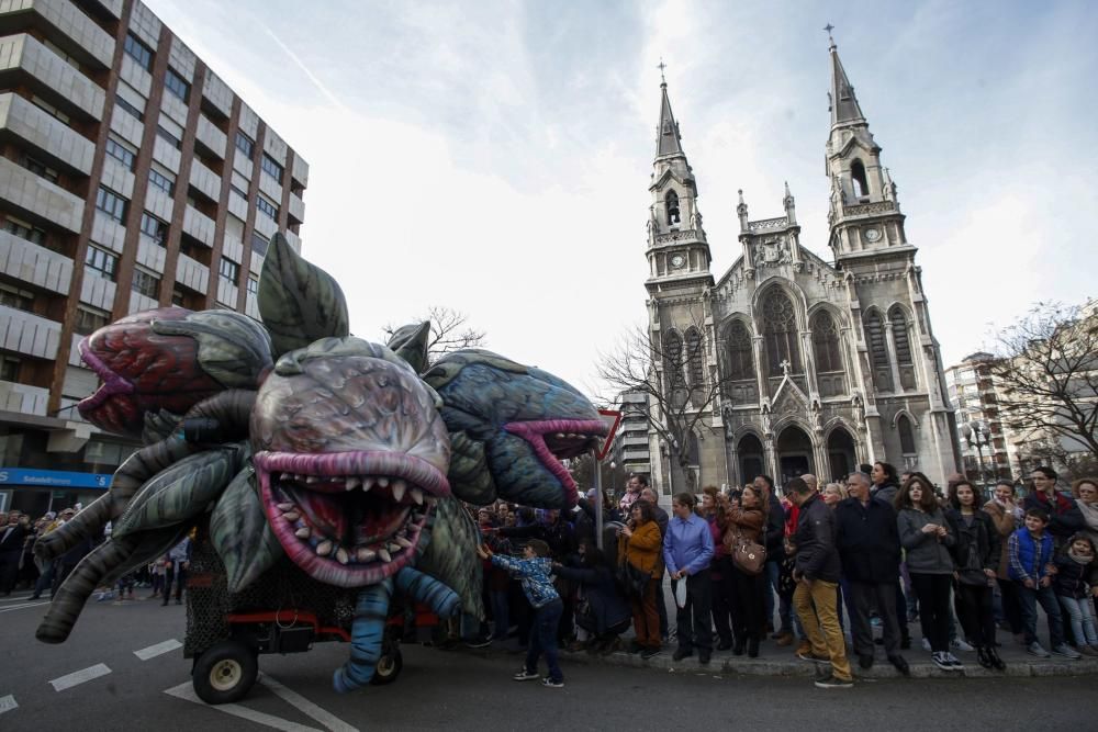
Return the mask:
<svg viewBox="0 0 1098 732"><path fill-rule="evenodd" d="M32 26L54 40L80 64L99 69L111 68L114 38L68 0L20 0L4 2L2 7L0 33L14 33Z"/></svg>

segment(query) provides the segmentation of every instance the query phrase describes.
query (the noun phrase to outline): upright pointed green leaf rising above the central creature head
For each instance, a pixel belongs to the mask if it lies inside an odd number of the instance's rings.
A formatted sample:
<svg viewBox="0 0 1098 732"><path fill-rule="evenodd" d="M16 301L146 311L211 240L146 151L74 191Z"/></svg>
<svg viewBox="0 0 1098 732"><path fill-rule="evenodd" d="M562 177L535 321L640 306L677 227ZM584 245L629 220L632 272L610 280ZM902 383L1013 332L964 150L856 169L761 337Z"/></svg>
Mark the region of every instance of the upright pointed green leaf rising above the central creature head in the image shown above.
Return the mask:
<svg viewBox="0 0 1098 732"><path fill-rule="evenodd" d="M302 259L281 234L271 237L259 274L258 301L276 359L318 338L350 334L347 300L339 284Z"/></svg>

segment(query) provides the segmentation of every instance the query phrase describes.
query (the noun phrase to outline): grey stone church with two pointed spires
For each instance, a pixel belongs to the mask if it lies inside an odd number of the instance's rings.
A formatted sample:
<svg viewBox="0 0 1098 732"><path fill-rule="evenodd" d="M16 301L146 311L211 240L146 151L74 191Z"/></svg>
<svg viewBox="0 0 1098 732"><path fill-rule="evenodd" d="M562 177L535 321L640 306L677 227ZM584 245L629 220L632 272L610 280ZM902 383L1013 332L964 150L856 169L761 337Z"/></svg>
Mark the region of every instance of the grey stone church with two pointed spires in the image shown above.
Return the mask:
<svg viewBox="0 0 1098 732"><path fill-rule="evenodd" d="M654 378L701 410L686 465L650 432L653 478L681 489L742 485L765 473L831 480L859 463L955 471L955 425L938 341L881 147L830 45L831 181L825 261L800 244L788 187L784 213L752 219L740 194L740 255L714 280L697 183L666 81L653 164L646 282Z"/></svg>

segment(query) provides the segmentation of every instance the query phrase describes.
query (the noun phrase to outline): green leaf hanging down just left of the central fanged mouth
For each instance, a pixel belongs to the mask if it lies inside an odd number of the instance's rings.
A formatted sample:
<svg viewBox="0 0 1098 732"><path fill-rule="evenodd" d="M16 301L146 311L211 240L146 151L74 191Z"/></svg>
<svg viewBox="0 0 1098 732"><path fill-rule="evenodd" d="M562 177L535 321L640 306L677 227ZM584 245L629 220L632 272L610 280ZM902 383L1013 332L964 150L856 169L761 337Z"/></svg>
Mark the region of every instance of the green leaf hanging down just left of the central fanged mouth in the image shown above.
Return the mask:
<svg viewBox="0 0 1098 732"><path fill-rule="evenodd" d="M210 516L210 539L225 565L231 593L250 585L282 556L250 468L242 470L217 499Z"/></svg>

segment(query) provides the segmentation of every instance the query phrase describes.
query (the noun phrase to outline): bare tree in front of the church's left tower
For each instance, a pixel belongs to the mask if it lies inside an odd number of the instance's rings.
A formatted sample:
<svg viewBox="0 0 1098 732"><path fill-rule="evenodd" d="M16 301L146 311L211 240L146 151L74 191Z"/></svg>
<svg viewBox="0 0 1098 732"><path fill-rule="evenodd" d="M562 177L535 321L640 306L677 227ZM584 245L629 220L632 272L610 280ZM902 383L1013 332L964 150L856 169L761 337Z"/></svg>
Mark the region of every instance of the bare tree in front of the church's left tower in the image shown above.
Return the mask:
<svg viewBox="0 0 1098 732"><path fill-rule="evenodd" d="M641 327L627 331L617 350L600 354L596 373L612 394L602 401L615 403L621 392L645 394L648 409L643 413L649 429L666 446L672 469L679 468L686 477L687 491L696 492L695 476L685 470L691 464L691 451L702 430L709 430L705 417L713 410L721 392L716 369L706 364L706 327L696 316L677 331L657 338ZM692 337L696 334L696 337Z"/></svg>

